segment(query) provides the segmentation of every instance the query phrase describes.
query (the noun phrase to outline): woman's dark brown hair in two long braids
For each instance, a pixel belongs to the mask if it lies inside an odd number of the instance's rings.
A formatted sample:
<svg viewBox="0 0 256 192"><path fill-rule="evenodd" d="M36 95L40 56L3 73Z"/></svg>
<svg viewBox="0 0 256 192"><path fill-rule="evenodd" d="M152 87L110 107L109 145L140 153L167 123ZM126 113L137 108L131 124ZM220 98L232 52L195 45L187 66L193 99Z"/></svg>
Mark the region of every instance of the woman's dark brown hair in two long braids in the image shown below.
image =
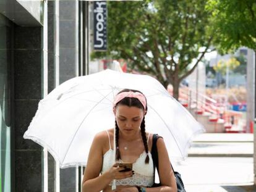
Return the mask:
<svg viewBox="0 0 256 192"><path fill-rule="evenodd" d="M142 93L140 91L137 90L129 90L129 89L124 89L122 91L120 91L119 93L122 92L128 92L128 91L133 91L133 92L139 92ZM117 93L117 94L119 94ZM147 101L147 100L146 100ZM118 104L122 104L124 106L128 106L128 107L138 107L139 109L144 109L142 103L139 101L139 99L137 98L124 98L121 101L117 102L116 106ZM146 111L147 111L147 105L146 105ZM121 154L120 154L120 150L119 150L119 127L117 125L117 122L115 122L116 124L116 160L118 161L119 159L121 159ZM142 123L140 124L140 133L142 135L142 140L143 140L143 144L144 144L144 148L145 151L147 152L147 157L145 159L145 164L148 164L149 162L149 156L148 156L148 144L147 144L147 136L146 136L146 132L145 132L145 117L143 117L142 119Z"/></svg>

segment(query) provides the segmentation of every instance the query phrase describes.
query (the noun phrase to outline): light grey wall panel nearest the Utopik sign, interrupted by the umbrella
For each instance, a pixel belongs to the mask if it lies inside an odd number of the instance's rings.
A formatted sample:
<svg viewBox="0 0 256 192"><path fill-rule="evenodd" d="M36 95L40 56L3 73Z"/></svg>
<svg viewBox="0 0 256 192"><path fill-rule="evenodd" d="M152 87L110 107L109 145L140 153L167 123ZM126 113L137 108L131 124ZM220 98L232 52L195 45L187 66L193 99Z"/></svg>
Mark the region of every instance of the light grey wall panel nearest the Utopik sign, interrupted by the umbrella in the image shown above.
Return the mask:
<svg viewBox="0 0 256 192"><path fill-rule="evenodd" d="M59 1L59 83L78 74L78 1ZM62 192L74 192L75 168L60 170Z"/></svg>

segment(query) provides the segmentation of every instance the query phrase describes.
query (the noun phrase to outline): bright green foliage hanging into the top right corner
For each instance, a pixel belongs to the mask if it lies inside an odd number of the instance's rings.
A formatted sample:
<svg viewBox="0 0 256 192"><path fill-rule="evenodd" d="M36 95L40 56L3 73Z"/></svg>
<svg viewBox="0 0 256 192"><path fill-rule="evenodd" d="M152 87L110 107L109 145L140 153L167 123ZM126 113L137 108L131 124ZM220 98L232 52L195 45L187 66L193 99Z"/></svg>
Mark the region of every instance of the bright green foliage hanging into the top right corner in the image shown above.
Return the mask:
<svg viewBox="0 0 256 192"><path fill-rule="evenodd" d="M256 50L256 0L208 0L213 40L221 53L241 46Z"/></svg>

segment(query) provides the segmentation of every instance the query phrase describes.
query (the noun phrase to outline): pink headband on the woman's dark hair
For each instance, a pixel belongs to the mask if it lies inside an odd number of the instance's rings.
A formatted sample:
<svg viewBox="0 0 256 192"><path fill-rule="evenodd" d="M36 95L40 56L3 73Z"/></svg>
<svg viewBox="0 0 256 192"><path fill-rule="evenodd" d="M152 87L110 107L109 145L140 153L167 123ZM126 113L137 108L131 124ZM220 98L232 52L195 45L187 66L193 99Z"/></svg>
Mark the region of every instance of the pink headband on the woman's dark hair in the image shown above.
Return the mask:
<svg viewBox="0 0 256 192"><path fill-rule="evenodd" d="M141 94L139 92L133 92L133 91L122 92L122 93L117 94L116 98L114 99L113 106L115 107L117 102L121 101L124 98L137 98L137 99L139 99L139 101L142 103L142 106L146 110L146 98L145 98L145 96L143 96L143 94Z"/></svg>

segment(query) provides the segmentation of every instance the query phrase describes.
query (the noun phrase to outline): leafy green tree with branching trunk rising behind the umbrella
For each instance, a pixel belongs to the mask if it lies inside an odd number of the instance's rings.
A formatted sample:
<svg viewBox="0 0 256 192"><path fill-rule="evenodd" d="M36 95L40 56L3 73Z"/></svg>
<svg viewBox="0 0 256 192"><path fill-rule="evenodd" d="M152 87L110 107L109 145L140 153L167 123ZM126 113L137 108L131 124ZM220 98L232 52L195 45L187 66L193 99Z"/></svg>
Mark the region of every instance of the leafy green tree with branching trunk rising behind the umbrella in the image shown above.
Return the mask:
<svg viewBox="0 0 256 192"><path fill-rule="evenodd" d="M211 51L210 13L204 0L108 2L108 51L94 57L128 59L167 87L179 84Z"/></svg>

